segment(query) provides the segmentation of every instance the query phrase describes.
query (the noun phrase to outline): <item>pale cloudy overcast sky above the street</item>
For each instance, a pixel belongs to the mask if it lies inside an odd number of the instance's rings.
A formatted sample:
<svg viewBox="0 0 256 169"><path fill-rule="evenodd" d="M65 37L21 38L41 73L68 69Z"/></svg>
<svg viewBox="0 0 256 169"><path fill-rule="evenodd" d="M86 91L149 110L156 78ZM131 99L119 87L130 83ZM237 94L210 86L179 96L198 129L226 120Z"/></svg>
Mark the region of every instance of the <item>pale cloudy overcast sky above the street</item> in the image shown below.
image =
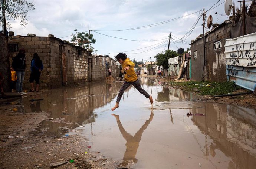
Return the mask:
<svg viewBox="0 0 256 169"><path fill-rule="evenodd" d="M200 13L202 13L200 10L205 8L207 11L218 1L34 0L35 10L29 11L26 27L20 26L19 21L11 21L12 28L10 31L14 31L15 35L19 34L23 36L26 36L28 33L36 34L36 36L53 34L57 38L70 41L72 36L69 35L75 33L75 28L80 32L88 31L90 28L90 30L96 31L91 32L97 41L95 44L92 44L98 50L96 54L114 57L119 52L127 51L125 53L131 59L149 61L150 57L152 60L155 60L154 56L156 54L167 50L170 32L172 32L171 37L176 41L180 38L183 38L183 40L186 38L183 43L181 43L181 40L178 40L180 43L174 43L171 40L170 50L177 51L181 47L186 51L190 47L188 44L191 43L191 40L203 33L203 27L201 26L203 19L200 18L190 35L187 34L185 37L184 35L191 30L193 24L198 20ZM215 8L213 7L213 9L207 11L207 17L210 14L213 16L213 23L220 24L224 20L227 20L227 16L222 16L226 15L224 1L220 0L214 6ZM236 2L236 4L238 5L239 3ZM170 21L152 25L168 20ZM147 25L151 26L126 31L103 31L124 30ZM118 38L140 41L129 41Z"/></svg>

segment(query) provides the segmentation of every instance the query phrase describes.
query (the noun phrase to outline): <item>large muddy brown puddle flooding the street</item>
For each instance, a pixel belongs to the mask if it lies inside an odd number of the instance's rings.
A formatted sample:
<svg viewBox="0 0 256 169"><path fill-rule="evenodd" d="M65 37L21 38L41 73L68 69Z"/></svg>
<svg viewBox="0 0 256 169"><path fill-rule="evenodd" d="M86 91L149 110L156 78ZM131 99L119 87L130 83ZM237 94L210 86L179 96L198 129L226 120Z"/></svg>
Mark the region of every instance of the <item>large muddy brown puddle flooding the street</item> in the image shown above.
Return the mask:
<svg viewBox="0 0 256 169"><path fill-rule="evenodd" d="M156 79L142 78L141 84L154 98L153 109L131 87L111 111L122 85L117 81L28 96L19 111L51 112L32 134L85 135L92 151L112 157L121 168L255 169L255 110L198 102L197 96L163 88ZM204 116L187 116L190 112Z"/></svg>

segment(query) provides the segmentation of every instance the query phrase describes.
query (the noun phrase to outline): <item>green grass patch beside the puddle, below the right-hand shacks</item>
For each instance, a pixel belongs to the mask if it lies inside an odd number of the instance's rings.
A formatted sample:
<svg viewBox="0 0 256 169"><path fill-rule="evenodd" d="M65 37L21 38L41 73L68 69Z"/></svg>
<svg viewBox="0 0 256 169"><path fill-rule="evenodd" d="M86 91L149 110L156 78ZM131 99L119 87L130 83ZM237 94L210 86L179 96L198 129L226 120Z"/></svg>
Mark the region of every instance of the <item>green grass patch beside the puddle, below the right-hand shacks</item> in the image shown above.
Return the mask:
<svg viewBox="0 0 256 169"><path fill-rule="evenodd" d="M172 86L183 86L187 91L196 91L199 95L223 95L230 94L237 89L241 89L233 81L222 83L216 82L170 82ZM210 86L209 86L210 85Z"/></svg>

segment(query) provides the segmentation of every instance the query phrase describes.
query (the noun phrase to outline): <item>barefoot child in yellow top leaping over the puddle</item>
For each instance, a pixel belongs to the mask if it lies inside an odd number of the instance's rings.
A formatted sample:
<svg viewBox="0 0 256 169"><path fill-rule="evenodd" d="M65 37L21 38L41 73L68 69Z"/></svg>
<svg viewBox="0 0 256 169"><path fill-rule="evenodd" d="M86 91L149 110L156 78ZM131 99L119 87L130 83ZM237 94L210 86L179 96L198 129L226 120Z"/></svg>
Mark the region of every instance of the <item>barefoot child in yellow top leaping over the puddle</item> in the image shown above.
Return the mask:
<svg viewBox="0 0 256 169"><path fill-rule="evenodd" d="M125 53L119 53L116 55L115 59L122 65L124 70L124 84L122 85L119 93L117 95L116 104L112 107L112 111L119 107L119 102L124 94L124 91L130 86L133 85L141 94L150 100L150 103L153 104L153 98L150 96L144 89L141 88L140 82L137 78L137 75L134 71L135 64L127 58Z"/></svg>

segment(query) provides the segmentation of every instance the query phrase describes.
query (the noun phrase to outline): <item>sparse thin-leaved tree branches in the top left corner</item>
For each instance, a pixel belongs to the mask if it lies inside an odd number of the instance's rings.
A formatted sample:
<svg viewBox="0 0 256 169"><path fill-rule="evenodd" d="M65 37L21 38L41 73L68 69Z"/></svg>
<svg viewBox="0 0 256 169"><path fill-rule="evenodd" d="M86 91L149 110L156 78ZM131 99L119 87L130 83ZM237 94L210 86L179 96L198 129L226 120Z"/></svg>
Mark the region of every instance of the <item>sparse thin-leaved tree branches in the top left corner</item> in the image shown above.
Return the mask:
<svg viewBox="0 0 256 169"><path fill-rule="evenodd" d="M27 0L1 0L0 4L0 23L4 28L11 28L9 21L11 19L20 20L20 25L25 26L27 23L27 13L34 10L35 5Z"/></svg>

